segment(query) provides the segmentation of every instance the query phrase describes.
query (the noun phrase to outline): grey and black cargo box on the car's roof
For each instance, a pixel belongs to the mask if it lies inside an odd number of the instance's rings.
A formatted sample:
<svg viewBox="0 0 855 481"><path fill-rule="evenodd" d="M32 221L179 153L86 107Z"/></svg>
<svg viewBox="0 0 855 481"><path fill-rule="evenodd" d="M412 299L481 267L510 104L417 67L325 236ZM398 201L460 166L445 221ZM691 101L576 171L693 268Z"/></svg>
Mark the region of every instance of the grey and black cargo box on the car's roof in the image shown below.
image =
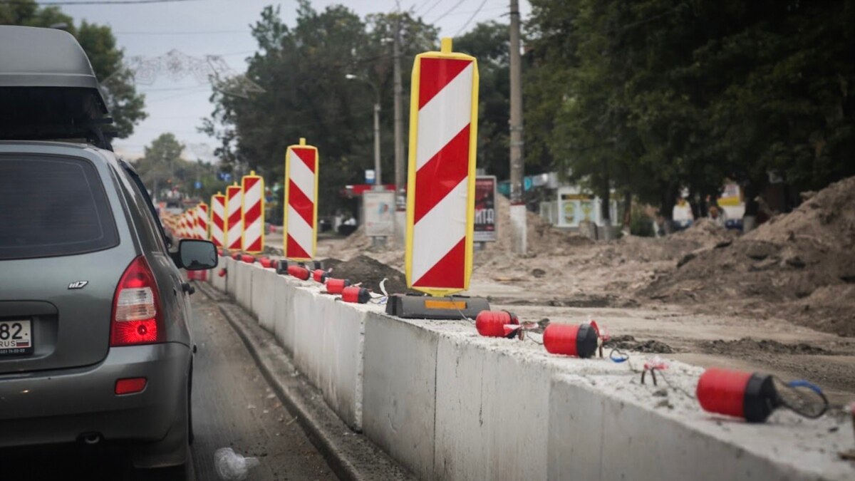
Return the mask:
<svg viewBox="0 0 855 481"><path fill-rule="evenodd" d="M80 140L108 147L109 112L74 36L0 26L0 140Z"/></svg>

